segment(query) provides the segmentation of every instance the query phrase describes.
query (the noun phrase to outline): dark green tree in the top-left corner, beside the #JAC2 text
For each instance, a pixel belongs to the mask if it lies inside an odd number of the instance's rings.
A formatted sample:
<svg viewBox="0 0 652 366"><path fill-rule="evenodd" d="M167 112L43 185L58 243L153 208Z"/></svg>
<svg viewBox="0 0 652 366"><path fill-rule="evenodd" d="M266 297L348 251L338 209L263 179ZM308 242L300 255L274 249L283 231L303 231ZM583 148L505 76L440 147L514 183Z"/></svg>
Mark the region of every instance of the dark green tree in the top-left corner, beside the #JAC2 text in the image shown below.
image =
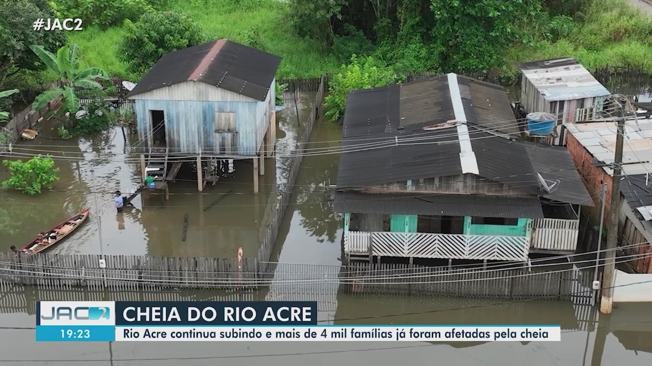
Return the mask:
<svg viewBox="0 0 652 366"><path fill-rule="evenodd" d="M29 51L31 44L56 49L66 43L65 32L35 31L32 24L39 18L53 18L45 1L0 0L0 89L8 76L45 68Z"/></svg>

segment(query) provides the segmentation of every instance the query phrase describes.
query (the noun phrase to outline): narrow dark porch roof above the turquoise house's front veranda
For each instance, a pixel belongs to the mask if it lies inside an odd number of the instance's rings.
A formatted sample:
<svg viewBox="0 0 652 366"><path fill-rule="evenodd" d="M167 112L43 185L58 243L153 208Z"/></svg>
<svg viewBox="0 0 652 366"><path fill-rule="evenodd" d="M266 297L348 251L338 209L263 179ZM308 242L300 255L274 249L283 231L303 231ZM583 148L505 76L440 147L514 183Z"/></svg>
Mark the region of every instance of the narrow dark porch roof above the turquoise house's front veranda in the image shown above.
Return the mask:
<svg viewBox="0 0 652 366"><path fill-rule="evenodd" d="M434 195L428 193L359 193L337 191L335 212L412 214L484 218L543 218L536 196Z"/></svg>

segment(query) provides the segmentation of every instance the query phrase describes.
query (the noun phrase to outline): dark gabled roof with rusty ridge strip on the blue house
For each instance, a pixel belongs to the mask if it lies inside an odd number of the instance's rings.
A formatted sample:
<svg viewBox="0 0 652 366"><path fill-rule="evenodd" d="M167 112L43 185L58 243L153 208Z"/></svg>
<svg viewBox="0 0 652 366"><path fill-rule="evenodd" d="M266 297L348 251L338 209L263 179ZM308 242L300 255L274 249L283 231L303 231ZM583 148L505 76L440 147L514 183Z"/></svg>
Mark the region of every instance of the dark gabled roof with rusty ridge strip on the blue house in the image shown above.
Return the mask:
<svg viewBox="0 0 652 366"><path fill-rule="evenodd" d="M263 101L279 64L280 57L271 53L216 40L163 55L127 97L199 81Z"/></svg>

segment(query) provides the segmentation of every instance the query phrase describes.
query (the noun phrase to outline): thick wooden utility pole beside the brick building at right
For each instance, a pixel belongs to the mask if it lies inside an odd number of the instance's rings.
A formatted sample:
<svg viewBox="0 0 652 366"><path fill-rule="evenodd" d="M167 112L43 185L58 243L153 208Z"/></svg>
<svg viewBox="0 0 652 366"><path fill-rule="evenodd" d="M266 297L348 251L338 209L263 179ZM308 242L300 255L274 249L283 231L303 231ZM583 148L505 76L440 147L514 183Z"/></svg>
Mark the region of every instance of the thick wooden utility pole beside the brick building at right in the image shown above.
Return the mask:
<svg viewBox="0 0 652 366"><path fill-rule="evenodd" d="M602 285L602 300L600 301L600 313L611 314L614 305L614 277L615 277L615 248L618 240L618 221L620 214L620 180L621 164L623 162L623 140L625 138L625 106L627 98L618 96L615 98L616 109L619 112L618 132L615 139L614 157L614 180L611 192L611 205L609 208L609 230L607 236L607 247L604 261L604 275ZM600 233L601 235L602 233Z"/></svg>

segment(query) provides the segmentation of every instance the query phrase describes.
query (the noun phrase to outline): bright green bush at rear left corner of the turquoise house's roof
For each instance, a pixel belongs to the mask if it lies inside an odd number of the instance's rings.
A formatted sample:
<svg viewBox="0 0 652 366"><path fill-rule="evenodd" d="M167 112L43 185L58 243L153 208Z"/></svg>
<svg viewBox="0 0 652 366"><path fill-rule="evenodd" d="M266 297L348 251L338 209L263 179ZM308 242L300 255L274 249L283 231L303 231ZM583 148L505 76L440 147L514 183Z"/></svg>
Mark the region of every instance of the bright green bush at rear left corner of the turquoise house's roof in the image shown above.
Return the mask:
<svg viewBox="0 0 652 366"><path fill-rule="evenodd" d="M351 63L343 65L329 82L329 94L324 99L326 116L331 120L344 116L349 91L381 87L397 81L400 81L400 77L389 66L373 57L359 58L353 55Z"/></svg>

